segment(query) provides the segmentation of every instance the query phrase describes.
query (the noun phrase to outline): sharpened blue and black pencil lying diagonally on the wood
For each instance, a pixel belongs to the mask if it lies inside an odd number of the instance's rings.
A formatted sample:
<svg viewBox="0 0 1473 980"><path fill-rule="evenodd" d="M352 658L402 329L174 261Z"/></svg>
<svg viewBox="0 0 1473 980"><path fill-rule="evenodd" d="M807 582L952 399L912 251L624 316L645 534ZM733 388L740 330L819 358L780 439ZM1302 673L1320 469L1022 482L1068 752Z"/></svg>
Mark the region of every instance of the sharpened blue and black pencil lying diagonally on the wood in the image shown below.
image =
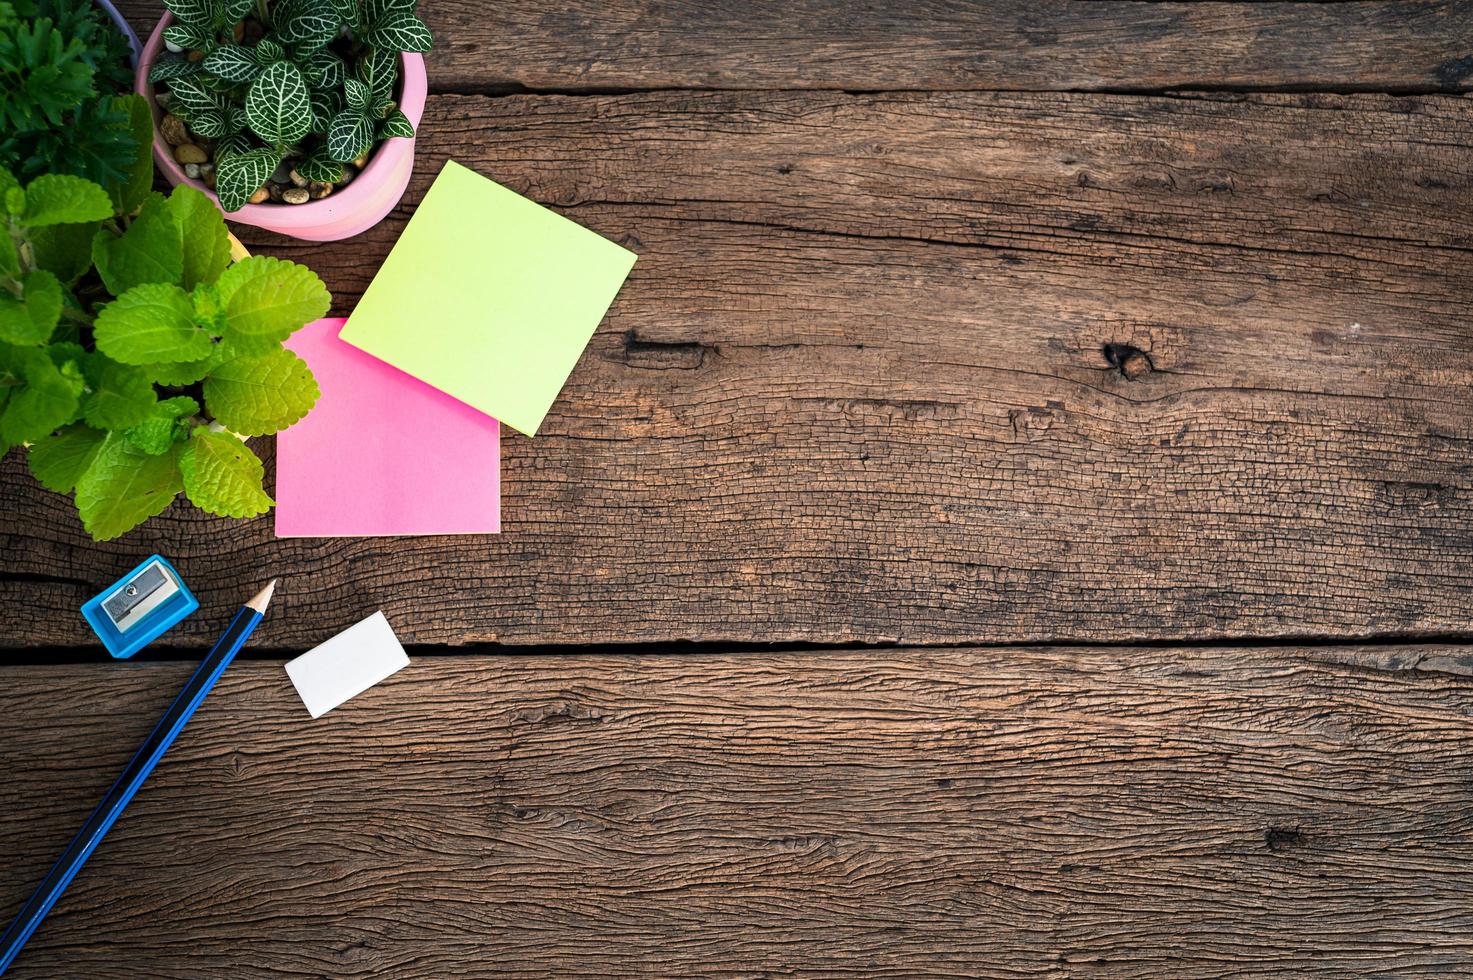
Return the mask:
<svg viewBox="0 0 1473 980"><path fill-rule="evenodd" d="M52 869L46 872L46 878L37 886L35 893L21 909L21 914L15 917L10 923L10 928L6 930L3 939L0 939L0 974L4 974L15 962L16 955L19 955L21 948L25 946L25 940L31 937L35 927L41 924L46 914L52 911L56 905L56 899L62 897L62 892L66 886L72 883L77 872L81 871L82 864L96 850L97 844L102 841L103 836L113 825L122 809L133 799L143 781L149 778L153 772L153 766L159 763L164 753L174 738L178 737L180 731L184 728L184 722L190 719L194 709L199 707L205 696L209 694L209 688L215 687L215 681L219 675L225 672L230 662L236 659L236 653L246 644L246 638L265 616L267 604L271 601L271 592L275 591L275 581L267 585L261 592L256 594L249 603L240 607L236 617L230 620L225 626L225 632L215 641L209 654L199 665L194 673L190 676L184 690L180 696L174 699L169 704L169 710L164 712L164 718L155 725L153 732L149 735L138 753L133 756L133 762L128 768L122 771L118 781L112 784L108 790L108 796L103 797L93 815L87 818L82 828L77 831L77 837L62 853L60 859L52 865Z"/></svg>

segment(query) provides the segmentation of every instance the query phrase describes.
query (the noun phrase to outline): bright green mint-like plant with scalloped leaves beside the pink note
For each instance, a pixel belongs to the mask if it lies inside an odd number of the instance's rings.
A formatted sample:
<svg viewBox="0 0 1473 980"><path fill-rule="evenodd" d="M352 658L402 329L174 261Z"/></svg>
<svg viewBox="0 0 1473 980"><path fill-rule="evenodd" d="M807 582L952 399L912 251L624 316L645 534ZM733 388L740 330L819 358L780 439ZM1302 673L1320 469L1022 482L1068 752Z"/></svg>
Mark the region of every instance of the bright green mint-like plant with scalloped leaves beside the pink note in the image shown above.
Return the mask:
<svg viewBox="0 0 1473 980"><path fill-rule="evenodd" d="M281 342L330 305L302 265L231 264L203 193L134 184L119 199L0 169L0 455L25 445L99 541L180 492L224 517L274 504L243 436L312 408L317 382Z"/></svg>

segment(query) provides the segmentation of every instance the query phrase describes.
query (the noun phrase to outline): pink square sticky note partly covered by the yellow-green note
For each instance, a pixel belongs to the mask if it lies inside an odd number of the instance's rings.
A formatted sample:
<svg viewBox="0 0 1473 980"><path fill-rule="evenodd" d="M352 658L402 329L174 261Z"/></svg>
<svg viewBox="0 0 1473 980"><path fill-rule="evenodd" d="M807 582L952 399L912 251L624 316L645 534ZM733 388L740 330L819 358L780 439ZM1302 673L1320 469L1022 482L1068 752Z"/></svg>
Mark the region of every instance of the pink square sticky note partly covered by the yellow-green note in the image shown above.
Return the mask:
<svg viewBox="0 0 1473 980"><path fill-rule="evenodd" d="M501 423L343 343L345 323L286 342L323 395L277 435L277 536L501 531Z"/></svg>

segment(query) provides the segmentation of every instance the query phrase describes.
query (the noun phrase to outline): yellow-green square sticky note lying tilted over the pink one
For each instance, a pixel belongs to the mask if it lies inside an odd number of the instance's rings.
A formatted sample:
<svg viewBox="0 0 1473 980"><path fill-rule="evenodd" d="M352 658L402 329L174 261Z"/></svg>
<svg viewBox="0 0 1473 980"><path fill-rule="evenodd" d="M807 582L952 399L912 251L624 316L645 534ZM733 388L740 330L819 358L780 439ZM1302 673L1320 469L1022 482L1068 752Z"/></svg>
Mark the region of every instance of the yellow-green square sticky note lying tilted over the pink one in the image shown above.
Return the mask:
<svg viewBox="0 0 1473 980"><path fill-rule="evenodd" d="M448 162L339 336L530 436L633 264Z"/></svg>

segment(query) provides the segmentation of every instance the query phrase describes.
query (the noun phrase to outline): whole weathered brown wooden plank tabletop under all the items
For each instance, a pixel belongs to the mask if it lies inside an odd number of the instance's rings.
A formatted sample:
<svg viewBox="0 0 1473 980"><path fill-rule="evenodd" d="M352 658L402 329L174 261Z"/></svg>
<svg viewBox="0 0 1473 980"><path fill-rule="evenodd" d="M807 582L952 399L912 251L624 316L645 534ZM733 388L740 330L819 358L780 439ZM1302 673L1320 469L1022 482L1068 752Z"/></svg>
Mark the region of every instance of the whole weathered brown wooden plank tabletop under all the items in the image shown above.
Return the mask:
<svg viewBox="0 0 1473 980"><path fill-rule="evenodd" d="M399 208L246 243L351 311L454 158L639 262L498 538L0 466L0 915L284 576L12 976L1473 973L1473 3L426 15Z"/></svg>

